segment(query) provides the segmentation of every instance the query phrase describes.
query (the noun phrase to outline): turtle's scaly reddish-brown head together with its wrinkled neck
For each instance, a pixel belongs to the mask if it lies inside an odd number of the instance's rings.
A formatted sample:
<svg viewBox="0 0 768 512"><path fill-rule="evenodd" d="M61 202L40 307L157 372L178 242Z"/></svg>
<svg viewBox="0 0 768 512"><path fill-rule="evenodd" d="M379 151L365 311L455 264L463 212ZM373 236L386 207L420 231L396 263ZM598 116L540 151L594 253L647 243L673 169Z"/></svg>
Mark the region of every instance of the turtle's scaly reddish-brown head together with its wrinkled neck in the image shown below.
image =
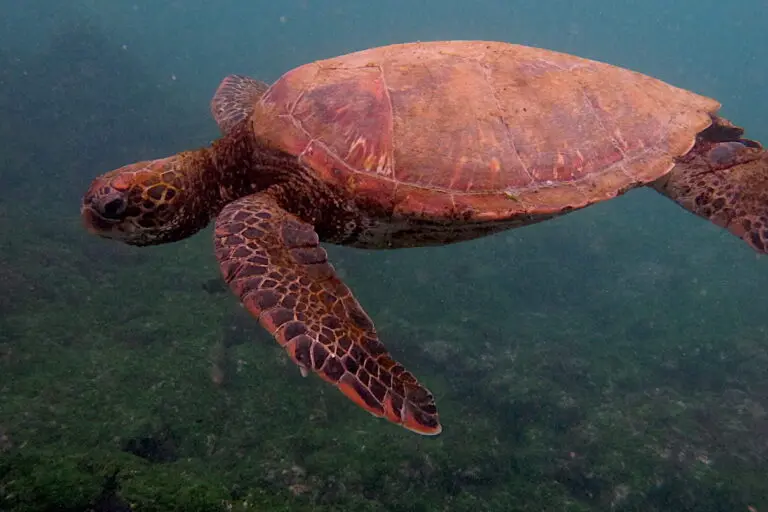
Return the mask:
<svg viewBox="0 0 768 512"><path fill-rule="evenodd" d="M284 180L281 155L237 131L209 148L126 165L96 178L81 215L99 236L156 245L203 229L225 204Z"/></svg>

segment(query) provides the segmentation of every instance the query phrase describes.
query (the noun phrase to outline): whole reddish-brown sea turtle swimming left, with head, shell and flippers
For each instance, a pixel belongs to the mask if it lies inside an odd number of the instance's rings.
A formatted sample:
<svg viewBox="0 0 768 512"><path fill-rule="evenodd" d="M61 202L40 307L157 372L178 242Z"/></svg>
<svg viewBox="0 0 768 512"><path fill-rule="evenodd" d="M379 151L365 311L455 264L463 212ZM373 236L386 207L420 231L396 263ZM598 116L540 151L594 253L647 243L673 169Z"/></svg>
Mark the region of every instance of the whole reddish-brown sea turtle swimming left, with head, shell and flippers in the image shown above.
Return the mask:
<svg viewBox="0 0 768 512"><path fill-rule="evenodd" d="M486 41L396 44L223 80L210 147L94 180L87 228L132 245L216 219L243 305L300 367L362 408L441 431L432 394L379 341L321 242L444 245L650 185L768 247L768 157L717 101L654 78Z"/></svg>

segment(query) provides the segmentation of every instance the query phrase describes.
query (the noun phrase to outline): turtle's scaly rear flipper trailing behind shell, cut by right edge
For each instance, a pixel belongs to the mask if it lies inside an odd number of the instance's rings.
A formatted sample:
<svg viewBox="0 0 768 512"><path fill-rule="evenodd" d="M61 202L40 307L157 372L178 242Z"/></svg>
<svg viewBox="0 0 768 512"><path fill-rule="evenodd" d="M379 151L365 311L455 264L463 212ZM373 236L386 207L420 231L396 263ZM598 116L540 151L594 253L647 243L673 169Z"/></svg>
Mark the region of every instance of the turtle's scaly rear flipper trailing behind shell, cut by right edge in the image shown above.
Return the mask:
<svg viewBox="0 0 768 512"><path fill-rule="evenodd" d="M711 142L692 153L653 187L768 253L768 153L747 139Z"/></svg>

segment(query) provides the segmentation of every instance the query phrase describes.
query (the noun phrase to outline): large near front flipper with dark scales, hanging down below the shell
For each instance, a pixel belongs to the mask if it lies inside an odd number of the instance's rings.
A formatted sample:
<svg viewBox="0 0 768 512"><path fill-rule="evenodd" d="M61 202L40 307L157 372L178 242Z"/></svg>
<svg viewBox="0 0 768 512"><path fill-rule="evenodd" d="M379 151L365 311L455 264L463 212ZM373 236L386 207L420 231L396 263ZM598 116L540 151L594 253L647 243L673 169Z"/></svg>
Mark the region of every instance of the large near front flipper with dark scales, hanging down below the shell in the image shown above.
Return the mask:
<svg viewBox="0 0 768 512"><path fill-rule="evenodd" d="M302 373L316 372L375 416L440 433L432 394L389 356L312 225L254 194L219 214L215 244L224 279Z"/></svg>

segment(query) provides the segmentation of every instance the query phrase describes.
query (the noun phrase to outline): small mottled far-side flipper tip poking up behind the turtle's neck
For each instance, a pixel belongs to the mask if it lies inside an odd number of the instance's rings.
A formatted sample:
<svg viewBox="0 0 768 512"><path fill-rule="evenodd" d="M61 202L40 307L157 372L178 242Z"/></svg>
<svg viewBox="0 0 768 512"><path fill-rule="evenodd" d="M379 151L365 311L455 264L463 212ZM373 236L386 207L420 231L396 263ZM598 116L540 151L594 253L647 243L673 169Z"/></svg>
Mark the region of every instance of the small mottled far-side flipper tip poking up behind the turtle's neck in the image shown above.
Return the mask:
<svg viewBox="0 0 768 512"><path fill-rule="evenodd" d="M269 85L242 75L229 75L219 84L211 100L211 114L224 134L250 117L253 105Z"/></svg>

